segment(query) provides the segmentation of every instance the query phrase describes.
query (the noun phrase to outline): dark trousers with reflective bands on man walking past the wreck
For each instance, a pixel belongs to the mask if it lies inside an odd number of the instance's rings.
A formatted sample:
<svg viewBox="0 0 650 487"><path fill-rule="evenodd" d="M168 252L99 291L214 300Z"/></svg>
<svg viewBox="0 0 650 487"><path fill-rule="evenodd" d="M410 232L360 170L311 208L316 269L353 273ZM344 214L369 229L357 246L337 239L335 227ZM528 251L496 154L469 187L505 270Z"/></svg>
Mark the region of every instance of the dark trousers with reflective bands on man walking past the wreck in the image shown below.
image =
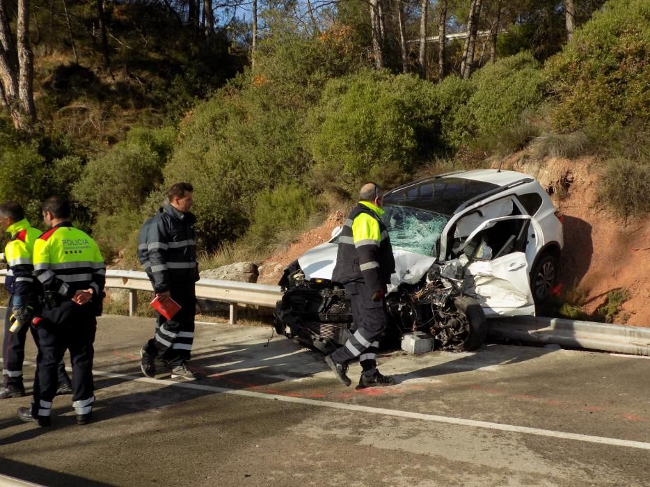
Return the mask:
<svg viewBox="0 0 650 487"><path fill-rule="evenodd" d="M384 301L372 301L374 291L367 289L363 281L348 282L345 291L350 298L356 331L330 357L340 364L358 358L363 374L371 376L376 372L379 337L386 330Z"/></svg>

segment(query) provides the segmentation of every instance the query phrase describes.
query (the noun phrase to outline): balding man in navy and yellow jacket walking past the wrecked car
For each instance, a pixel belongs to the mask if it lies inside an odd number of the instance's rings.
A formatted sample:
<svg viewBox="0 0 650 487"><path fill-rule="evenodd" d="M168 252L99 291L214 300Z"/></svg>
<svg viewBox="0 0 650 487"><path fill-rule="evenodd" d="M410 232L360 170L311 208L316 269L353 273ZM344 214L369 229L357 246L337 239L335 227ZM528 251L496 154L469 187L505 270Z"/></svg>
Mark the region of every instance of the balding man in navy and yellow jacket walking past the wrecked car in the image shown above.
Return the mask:
<svg viewBox="0 0 650 487"><path fill-rule="evenodd" d="M393 385L395 379L377 370L379 337L386 329L384 296L395 272L393 247L381 221L383 191L375 183L364 184L359 202L345 222L338 244L332 280L345 286L352 306L356 332L344 346L326 356L325 362L344 385L350 385L347 364L358 358L363 372L357 389Z"/></svg>

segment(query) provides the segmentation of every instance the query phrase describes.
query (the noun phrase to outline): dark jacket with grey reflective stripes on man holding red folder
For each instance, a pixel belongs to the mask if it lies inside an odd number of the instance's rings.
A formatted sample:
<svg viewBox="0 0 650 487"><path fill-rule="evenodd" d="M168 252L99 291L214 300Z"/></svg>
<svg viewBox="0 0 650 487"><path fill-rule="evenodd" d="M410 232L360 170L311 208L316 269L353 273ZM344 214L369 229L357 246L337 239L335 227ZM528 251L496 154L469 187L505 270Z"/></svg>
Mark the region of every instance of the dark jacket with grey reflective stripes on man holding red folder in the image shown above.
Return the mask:
<svg viewBox="0 0 650 487"><path fill-rule="evenodd" d="M198 280L194 223L193 214L167 205L142 225L138 260L155 292L192 285Z"/></svg>

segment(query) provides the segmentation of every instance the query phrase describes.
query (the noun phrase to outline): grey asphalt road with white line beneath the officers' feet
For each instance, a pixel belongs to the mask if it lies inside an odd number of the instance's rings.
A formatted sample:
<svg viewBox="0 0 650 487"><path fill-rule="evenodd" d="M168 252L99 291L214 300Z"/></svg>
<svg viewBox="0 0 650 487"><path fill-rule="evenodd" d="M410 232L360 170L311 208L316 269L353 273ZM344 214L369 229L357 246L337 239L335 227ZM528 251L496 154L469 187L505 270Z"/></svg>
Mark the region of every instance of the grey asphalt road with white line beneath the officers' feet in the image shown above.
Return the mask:
<svg viewBox="0 0 650 487"><path fill-rule="evenodd" d="M100 318L91 424L70 396L45 429L17 420L29 397L0 401L0 473L67 487L650 484L647 358L399 352L380 359L397 385L357 392L319 354L266 346L270 328L198 325L204 378L176 383L142 376L151 333L148 319ZM26 378L34 356L30 343Z"/></svg>

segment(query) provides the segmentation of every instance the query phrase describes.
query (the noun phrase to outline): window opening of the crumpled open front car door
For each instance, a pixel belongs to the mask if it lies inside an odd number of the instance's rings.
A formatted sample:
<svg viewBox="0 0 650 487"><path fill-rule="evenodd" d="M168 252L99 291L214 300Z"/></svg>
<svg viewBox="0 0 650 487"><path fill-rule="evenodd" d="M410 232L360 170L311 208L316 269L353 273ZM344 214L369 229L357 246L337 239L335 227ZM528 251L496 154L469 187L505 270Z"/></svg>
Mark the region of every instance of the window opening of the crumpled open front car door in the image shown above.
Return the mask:
<svg viewBox="0 0 650 487"><path fill-rule="evenodd" d="M493 260L513 252L525 251L530 218L511 218L497 221L478 232L466 245L457 244L455 253L462 253L473 259Z"/></svg>

